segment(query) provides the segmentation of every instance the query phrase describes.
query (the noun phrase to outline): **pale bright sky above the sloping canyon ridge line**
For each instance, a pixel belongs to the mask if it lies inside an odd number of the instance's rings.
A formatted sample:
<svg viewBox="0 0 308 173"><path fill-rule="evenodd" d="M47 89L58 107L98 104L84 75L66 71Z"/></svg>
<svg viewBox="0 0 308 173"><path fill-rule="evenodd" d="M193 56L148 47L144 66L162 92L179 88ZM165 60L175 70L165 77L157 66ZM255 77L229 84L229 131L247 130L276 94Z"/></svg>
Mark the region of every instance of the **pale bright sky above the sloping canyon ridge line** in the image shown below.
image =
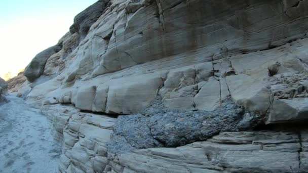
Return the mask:
<svg viewBox="0 0 308 173"><path fill-rule="evenodd" d="M0 76L17 73L97 0L0 0Z"/></svg>

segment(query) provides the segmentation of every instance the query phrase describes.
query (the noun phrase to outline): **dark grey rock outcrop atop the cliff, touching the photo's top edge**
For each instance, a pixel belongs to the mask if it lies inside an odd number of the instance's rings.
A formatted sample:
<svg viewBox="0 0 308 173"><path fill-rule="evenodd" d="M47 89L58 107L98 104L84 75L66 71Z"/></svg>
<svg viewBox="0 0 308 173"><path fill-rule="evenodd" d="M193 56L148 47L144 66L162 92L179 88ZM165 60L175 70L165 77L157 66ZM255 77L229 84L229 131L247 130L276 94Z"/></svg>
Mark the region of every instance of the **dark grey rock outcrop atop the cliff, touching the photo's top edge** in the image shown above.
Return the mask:
<svg viewBox="0 0 308 173"><path fill-rule="evenodd" d="M108 2L109 0L99 0L83 12L79 13L75 16L74 23L70 26L69 31L71 33L78 32L81 35L81 38L84 38L88 34L93 23L95 23L102 15Z"/></svg>

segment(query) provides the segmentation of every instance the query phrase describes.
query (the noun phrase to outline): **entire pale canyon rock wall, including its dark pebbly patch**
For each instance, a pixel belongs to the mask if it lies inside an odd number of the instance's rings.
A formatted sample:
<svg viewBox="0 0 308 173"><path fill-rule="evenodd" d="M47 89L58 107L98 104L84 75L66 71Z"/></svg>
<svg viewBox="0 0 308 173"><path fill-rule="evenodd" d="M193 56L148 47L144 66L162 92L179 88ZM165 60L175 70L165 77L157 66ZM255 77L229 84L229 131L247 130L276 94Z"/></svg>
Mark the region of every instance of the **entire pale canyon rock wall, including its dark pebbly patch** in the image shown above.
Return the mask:
<svg viewBox="0 0 308 173"><path fill-rule="evenodd" d="M53 122L59 172L305 172L307 7L98 1L19 93Z"/></svg>

